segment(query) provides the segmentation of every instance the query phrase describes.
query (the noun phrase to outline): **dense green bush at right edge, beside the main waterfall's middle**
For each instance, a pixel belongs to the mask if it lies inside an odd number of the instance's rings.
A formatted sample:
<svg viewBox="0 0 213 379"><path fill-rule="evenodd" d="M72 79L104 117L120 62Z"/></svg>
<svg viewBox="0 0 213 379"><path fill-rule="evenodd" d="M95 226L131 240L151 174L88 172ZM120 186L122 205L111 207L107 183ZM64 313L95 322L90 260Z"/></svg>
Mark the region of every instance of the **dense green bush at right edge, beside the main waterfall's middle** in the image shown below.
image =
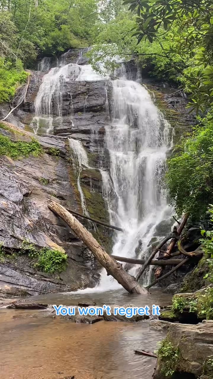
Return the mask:
<svg viewBox="0 0 213 379"><path fill-rule="evenodd" d="M213 202L213 121L209 114L168 160L167 183L177 213L197 220Z"/></svg>

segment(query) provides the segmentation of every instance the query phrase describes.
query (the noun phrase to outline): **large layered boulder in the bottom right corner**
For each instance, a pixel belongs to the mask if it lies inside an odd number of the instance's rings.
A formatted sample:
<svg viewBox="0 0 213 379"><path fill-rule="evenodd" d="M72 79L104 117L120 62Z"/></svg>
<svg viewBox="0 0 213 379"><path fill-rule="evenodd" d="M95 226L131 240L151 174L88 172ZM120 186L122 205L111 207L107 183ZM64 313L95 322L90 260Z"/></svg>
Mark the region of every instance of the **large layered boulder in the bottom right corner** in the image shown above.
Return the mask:
<svg viewBox="0 0 213 379"><path fill-rule="evenodd" d="M171 357L164 357L160 351L153 379L168 377L167 369L174 372L172 378L180 375L186 378L213 377L213 321L197 325L171 324L166 344L171 349ZM172 351L177 352L175 359L172 359Z"/></svg>

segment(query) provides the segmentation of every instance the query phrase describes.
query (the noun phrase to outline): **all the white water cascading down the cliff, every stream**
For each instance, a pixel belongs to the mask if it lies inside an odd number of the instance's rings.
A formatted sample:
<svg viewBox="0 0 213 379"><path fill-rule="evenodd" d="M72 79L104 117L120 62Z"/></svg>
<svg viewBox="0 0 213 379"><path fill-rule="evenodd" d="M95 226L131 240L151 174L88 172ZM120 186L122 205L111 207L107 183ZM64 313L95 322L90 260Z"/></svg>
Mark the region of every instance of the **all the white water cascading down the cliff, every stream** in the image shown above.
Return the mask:
<svg viewBox="0 0 213 379"><path fill-rule="evenodd" d="M47 65L49 60L44 61L42 69ZM121 79L111 81L113 100L110 103L107 100L106 107L111 118L105 126L105 149L110 157L110 175L101 171L110 223L124 229L124 233L116 232L114 235L112 253L124 257L145 257L152 238L159 237L157 227L162 221L169 223L171 219L163 175L166 154L172 144L172 128L152 102L147 89L138 80L127 80L124 65L117 70L116 76ZM66 64L65 54L57 62L57 67L50 69L43 77L35 101L35 119L37 117L38 124L42 117L46 117L49 130L52 127L53 98L57 105L54 114L58 118L62 116L61 86L66 81L103 79L106 76L96 73L89 64ZM82 210L88 215L80 185L81 170L83 167L89 168L88 157L80 141L70 138L69 146L78 175ZM135 276L138 269L138 266L133 266L128 271ZM143 277L144 284L149 282L150 275L151 270L147 269ZM83 291L105 291L118 287L120 285L110 279L104 269L100 284L94 289Z"/></svg>

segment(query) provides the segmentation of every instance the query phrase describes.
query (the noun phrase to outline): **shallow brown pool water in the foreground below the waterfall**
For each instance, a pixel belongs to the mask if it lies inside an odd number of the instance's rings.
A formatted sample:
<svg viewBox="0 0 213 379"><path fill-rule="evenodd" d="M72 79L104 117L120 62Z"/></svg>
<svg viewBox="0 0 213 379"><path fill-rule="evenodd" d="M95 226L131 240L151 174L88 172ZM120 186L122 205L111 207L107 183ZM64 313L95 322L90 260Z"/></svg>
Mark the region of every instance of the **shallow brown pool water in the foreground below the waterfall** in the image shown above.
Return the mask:
<svg viewBox="0 0 213 379"><path fill-rule="evenodd" d="M156 291L149 301L143 300L143 296L133 299L123 291L85 296L52 294L31 299L64 305L89 299L124 305L131 298L132 304L142 306L162 302L166 305L171 297ZM44 315L47 312L41 310L0 310L0 379L72 376L75 379L151 379L156 360L135 355L134 350L154 351L165 331L150 328L149 322L100 321L88 325Z"/></svg>

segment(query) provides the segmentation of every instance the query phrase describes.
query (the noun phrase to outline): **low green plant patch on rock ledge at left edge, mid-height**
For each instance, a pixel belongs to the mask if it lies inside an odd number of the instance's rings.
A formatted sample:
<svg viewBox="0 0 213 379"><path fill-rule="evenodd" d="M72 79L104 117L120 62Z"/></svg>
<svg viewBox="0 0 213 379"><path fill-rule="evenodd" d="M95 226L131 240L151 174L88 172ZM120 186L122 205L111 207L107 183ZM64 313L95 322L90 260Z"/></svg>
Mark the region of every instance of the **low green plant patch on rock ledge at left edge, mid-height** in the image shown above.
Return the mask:
<svg viewBox="0 0 213 379"><path fill-rule="evenodd" d="M0 155L6 155L13 159L21 159L29 155L38 157L42 152L42 146L34 138L30 142L13 142L9 137L0 135Z"/></svg>

